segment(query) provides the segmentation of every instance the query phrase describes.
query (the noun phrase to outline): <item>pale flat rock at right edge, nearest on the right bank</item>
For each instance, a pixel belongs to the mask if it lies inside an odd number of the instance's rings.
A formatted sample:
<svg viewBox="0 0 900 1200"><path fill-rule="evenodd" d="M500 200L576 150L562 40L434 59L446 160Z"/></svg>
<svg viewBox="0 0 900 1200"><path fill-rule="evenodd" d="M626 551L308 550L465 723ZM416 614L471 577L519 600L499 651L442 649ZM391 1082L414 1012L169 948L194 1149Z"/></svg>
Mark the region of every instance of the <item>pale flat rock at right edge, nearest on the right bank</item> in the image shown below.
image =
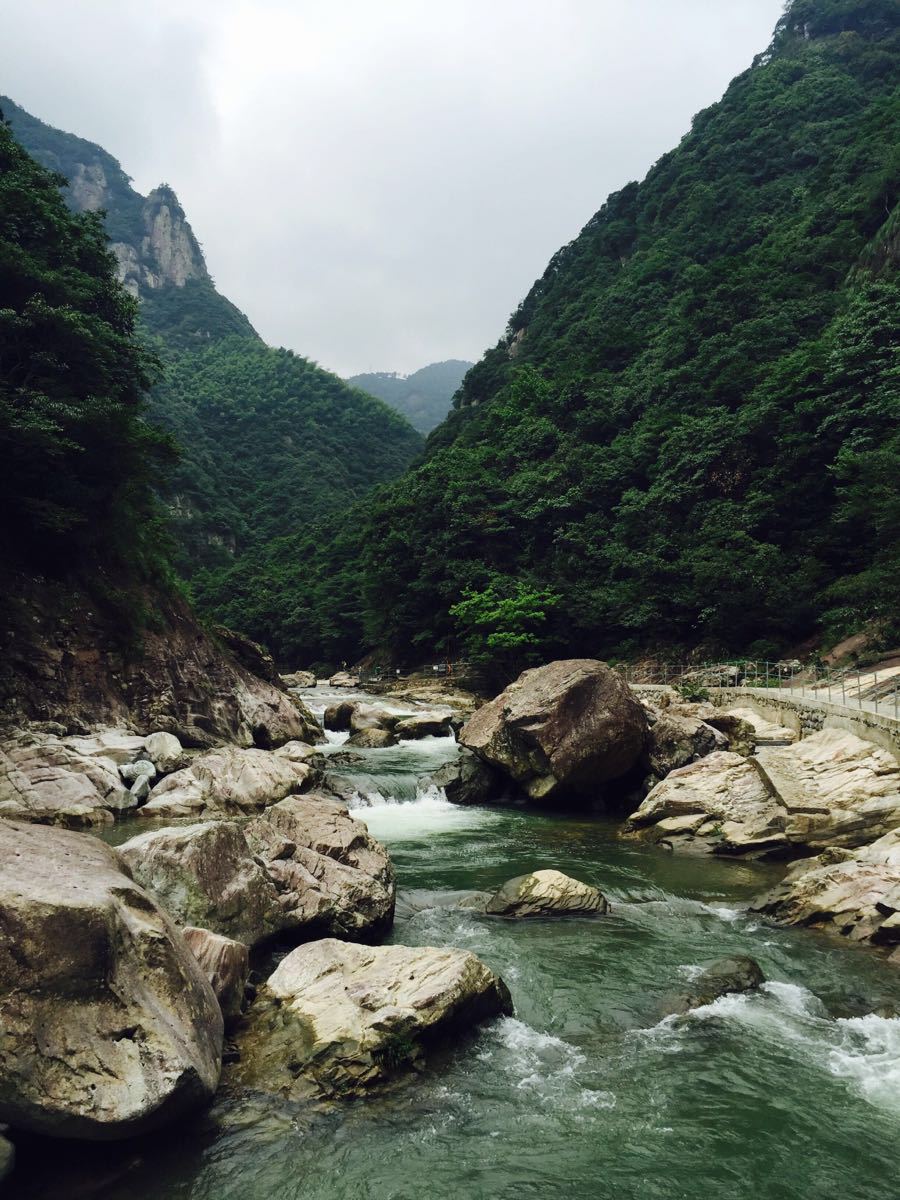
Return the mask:
<svg viewBox="0 0 900 1200"><path fill-rule="evenodd" d="M826 850L796 863L752 907L785 925L812 925L857 942L900 943L900 830L860 850Z"/></svg>

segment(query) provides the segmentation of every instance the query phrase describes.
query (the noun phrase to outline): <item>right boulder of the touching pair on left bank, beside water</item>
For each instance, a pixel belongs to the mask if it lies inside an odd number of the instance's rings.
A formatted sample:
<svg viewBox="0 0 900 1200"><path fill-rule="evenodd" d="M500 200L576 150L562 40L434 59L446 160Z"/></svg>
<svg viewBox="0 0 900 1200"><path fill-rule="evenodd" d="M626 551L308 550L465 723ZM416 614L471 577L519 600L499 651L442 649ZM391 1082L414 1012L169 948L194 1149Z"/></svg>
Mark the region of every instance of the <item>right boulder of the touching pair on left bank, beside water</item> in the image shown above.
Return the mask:
<svg viewBox="0 0 900 1200"><path fill-rule="evenodd" d="M396 881L386 851L346 805L292 796L246 827L294 937L370 940L394 923Z"/></svg>

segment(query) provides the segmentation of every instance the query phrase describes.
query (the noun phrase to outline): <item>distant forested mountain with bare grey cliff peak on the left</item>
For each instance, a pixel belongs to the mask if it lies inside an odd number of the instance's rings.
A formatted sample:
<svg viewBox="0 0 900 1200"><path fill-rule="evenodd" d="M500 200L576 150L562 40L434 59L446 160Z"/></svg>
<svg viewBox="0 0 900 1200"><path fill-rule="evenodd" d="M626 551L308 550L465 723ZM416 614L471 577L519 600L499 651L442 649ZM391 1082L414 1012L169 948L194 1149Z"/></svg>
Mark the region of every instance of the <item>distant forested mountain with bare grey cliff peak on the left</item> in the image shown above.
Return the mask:
<svg viewBox="0 0 900 1200"><path fill-rule="evenodd" d="M116 274L139 301L161 365L149 416L180 446L163 484L176 564L192 577L306 528L398 475L420 436L378 400L265 346L222 296L173 190L143 197L101 146L0 97L13 133L68 181L76 212L102 212ZM241 613L233 614L238 625Z"/></svg>

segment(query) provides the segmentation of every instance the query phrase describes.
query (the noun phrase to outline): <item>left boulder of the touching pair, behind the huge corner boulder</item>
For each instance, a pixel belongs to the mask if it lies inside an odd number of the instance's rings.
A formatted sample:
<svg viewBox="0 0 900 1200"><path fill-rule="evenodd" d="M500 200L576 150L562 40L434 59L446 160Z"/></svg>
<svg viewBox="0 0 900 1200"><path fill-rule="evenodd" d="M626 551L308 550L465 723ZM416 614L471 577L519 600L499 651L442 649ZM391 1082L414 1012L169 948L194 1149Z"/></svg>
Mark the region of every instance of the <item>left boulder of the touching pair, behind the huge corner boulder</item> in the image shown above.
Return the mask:
<svg viewBox="0 0 900 1200"><path fill-rule="evenodd" d="M180 925L253 944L286 924L275 884L233 821L138 834L119 854Z"/></svg>

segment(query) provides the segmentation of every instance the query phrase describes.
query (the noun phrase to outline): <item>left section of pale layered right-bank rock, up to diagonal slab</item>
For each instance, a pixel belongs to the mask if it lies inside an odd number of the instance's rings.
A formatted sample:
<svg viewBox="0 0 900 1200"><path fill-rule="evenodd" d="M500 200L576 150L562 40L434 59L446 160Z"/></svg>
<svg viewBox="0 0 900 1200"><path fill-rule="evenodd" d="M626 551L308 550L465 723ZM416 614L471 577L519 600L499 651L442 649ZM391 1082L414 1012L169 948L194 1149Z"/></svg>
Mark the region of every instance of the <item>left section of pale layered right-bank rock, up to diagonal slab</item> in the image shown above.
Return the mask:
<svg viewBox="0 0 900 1200"><path fill-rule="evenodd" d="M722 750L673 770L628 820L654 841L720 854L784 854L785 810L752 760Z"/></svg>

